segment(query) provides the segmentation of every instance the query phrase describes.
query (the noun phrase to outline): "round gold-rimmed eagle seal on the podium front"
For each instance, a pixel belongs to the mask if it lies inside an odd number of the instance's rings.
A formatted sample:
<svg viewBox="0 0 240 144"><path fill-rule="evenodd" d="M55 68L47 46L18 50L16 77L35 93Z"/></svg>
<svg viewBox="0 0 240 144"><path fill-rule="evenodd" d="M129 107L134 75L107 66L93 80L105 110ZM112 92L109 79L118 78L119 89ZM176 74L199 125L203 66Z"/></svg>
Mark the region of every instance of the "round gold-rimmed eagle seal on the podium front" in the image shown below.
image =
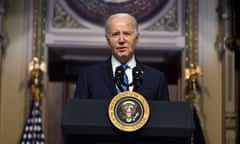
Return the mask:
<svg viewBox="0 0 240 144"><path fill-rule="evenodd" d="M109 104L108 116L121 131L133 132L148 121L150 108L147 100L136 92L125 91L116 95Z"/></svg>

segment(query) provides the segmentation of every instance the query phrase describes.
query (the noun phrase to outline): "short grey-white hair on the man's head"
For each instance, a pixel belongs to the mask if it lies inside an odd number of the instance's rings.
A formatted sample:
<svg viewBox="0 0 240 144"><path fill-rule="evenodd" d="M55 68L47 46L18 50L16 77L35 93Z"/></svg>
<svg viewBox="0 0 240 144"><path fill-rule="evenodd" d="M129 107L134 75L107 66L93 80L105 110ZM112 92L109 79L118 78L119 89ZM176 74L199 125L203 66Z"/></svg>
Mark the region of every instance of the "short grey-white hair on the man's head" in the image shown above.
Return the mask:
<svg viewBox="0 0 240 144"><path fill-rule="evenodd" d="M138 33L138 23L137 23L137 20L134 16L132 16L128 13L116 13L116 14L113 14L113 15L109 16L108 19L106 20L106 23L105 23L105 34L106 35L109 32L109 21L112 20L113 18L116 18L116 17L130 17L133 21L134 26L135 26L135 32Z"/></svg>

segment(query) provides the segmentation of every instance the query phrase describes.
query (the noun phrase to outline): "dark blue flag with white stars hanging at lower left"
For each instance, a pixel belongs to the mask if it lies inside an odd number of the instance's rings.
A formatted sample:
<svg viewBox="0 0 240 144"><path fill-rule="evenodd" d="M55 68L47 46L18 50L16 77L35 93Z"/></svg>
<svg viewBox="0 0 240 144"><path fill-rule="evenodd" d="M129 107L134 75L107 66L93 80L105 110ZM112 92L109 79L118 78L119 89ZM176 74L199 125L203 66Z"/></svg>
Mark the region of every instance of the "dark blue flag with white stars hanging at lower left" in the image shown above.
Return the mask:
<svg viewBox="0 0 240 144"><path fill-rule="evenodd" d="M32 100L19 144L45 144L39 102Z"/></svg>

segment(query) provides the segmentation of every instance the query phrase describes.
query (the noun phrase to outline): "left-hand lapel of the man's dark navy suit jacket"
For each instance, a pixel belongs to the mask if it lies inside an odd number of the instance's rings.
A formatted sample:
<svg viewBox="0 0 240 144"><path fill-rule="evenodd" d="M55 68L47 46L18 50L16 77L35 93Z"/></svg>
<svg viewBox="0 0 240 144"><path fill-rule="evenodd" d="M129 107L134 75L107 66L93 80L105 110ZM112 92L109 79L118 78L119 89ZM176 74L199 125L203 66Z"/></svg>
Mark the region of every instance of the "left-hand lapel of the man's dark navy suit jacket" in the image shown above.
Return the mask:
<svg viewBox="0 0 240 144"><path fill-rule="evenodd" d="M111 58L108 58L102 67L102 76L105 80L110 95L113 97L117 94L116 86L114 83Z"/></svg>

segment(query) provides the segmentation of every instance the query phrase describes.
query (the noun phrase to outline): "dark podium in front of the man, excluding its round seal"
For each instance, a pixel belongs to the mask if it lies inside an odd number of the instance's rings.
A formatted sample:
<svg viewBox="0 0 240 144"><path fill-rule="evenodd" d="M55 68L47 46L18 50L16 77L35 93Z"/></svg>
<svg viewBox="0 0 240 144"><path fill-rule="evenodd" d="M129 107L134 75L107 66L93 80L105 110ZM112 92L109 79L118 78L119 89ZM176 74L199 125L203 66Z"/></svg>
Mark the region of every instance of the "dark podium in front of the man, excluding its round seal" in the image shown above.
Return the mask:
<svg viewBox="0 0 240 144"><path fill-rule="evenodd" d="M194 121L188 102L149 101L149 120L135 132L123 132L112 125L108 118L109 102L110 100L69 100L61 123L64 143L190 143Z"/></svg>

